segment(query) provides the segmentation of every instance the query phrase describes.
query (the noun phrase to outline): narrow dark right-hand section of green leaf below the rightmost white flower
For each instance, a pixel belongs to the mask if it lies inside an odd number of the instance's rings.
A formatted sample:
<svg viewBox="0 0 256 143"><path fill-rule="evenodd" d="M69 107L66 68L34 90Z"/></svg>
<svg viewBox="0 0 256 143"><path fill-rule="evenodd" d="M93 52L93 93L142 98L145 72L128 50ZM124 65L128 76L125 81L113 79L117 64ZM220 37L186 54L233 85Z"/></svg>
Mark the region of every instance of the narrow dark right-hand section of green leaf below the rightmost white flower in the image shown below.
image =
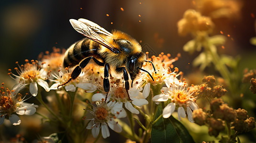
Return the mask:
<svg viewBox="0 0 256 143"><path fill-rule="evenodd" d="M182 143L195 143L185 126L173 116L169 117Z"/></svg>

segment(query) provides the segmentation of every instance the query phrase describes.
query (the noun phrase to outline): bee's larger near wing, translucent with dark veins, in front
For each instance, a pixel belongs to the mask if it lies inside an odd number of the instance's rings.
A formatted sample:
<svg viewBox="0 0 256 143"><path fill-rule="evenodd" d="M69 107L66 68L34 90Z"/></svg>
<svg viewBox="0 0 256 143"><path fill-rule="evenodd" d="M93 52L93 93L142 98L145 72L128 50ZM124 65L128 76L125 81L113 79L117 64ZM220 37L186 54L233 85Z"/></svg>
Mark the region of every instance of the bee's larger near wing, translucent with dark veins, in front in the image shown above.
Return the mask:
<svg viewBox="0 0 256 143"><path fill-rule="evenodd" d="M85 25L84 23L82 23L78 20L70 19L69 21L70 21L71 25L73 26L73 28L76 31L83 34L84 36L86 36L90 40L99 43L100 45L108 48L110 51L112 51L114 53L119 53L120 52L117 48L115 48L109 42L107 42L105 39L100 37L100 35L98 35L95 31L91 30L91 28L89 26Z"/></svg>

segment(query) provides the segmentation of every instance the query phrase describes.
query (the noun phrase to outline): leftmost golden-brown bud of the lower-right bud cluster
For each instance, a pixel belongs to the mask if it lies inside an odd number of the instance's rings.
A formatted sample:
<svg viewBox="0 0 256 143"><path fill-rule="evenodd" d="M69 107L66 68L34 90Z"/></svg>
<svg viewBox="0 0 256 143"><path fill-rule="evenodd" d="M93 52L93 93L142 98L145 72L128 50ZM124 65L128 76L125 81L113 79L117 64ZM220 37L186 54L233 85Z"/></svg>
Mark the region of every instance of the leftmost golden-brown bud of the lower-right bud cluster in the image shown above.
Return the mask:
<svg viewBox="0 0 256 143"><path fill-rule="evenodd" d="M200 108L200 109L197 109L197 110L193 111L192 117L193 117L193 120L195 121L195 123L201 126L201 125L205 124L207 115Z"/></svg>

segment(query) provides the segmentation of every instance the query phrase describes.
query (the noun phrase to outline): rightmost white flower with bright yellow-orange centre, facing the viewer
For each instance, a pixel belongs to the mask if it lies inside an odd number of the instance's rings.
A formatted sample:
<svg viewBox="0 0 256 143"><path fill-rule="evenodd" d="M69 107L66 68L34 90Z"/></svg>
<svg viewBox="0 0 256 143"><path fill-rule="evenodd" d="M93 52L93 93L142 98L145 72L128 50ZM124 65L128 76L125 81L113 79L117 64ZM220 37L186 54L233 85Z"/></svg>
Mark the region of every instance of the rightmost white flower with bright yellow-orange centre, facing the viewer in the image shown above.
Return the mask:
<svg viewBox="0 0 256 143"><path fill-rule="evenodd" d="M167 87L161 89L162 93L152 98L154 102L169 102L163 109L163 117L169 118L171 114L178 108L178 120L186 118L187 110L188 119L193 123L192 111L198 109L195 103L196 98L192 96L193 93L186 89L185 82L169 82L166 80ZM185 109L184 109L185 108Z"/></svg>

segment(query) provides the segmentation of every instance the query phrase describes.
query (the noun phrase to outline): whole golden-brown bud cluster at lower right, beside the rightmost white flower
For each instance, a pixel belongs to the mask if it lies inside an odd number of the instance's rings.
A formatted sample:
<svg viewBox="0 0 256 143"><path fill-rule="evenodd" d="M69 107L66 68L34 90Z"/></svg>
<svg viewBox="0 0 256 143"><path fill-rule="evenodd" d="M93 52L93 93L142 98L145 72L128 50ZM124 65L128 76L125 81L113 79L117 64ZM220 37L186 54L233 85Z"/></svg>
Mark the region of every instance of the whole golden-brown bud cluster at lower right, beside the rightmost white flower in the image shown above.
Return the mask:
<svg viewBox="0 0 256 143"><path fill-rule="evenodd" d="M199 125L208 124L209 134L217 137L225 130L225 124L238 133L249 132L255 128L255 120L248 117L244 109L233 109L223 103L221 99L215 99L210 104L211 111L204 112L202 109L193 112L193 120Z"/></svg>

